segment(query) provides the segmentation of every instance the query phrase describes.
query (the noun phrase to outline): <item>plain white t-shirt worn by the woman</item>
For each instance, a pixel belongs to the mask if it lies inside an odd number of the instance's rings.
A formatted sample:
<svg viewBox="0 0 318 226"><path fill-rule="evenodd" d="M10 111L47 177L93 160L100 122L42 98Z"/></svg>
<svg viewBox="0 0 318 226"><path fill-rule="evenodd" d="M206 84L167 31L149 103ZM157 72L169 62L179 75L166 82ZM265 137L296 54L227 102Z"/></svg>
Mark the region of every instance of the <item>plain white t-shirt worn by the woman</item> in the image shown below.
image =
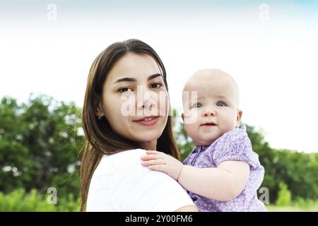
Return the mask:
<svg viewBox="0 0 318 226"><path fill-rule="evenodd" d="M174 211L194 205L175 179L141 165L145 150L104 155L95 169L86 211Z"/></svg>

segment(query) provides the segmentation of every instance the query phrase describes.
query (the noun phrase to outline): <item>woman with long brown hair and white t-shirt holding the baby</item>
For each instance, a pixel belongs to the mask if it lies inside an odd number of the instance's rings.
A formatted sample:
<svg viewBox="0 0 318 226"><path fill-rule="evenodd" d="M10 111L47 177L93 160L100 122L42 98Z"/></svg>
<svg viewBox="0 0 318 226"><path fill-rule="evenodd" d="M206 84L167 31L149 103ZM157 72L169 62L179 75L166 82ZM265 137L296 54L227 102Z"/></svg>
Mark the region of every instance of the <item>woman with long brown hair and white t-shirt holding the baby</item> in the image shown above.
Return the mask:
<svg viewBox="0 0 318 226"><path fill-rule="evenodd" d="M165 67L148 44L116 42L98 55L83 105L81 210L196 211L174 179L141 165L145 150L179 158L168 112Z"/></svg>

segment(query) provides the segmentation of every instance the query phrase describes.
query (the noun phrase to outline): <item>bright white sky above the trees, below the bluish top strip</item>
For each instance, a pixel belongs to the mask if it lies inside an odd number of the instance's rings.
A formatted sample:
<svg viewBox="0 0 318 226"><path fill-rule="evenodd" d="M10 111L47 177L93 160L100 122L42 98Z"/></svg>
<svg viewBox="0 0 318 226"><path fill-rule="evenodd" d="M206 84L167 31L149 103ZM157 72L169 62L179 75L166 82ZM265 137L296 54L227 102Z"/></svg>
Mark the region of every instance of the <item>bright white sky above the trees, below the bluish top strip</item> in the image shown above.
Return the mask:
<svg viewBox="0 0 318 226"><path fill-rule="evenodd" d="M42 93L81 107L95 57L112 42L138 38L163 60L179 111L194 71L222 69L240 86L243 122L263 129L271 147L318 151L317 19L269 5L269 20L260 20L259 4L193 14L71 14L57 4L57 20L49 21L41 7L36 16L1 16L0 97L25 102Z"/></svg>

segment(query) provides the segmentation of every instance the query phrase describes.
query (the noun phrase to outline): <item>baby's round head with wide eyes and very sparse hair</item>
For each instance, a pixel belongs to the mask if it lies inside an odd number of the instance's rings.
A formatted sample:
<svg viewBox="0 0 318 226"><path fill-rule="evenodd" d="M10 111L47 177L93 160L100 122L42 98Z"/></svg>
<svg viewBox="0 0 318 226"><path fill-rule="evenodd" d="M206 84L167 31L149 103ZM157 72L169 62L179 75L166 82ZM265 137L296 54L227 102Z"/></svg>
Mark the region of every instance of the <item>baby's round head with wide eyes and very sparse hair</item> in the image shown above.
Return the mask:
<svg viewBox="0 0 318 226"><path fill-rule="evenodd" d="M242 111L238 107L238 88L234 80L220 71L204 70L192 76L184 91L184 129L196 145L211 145L223 133L235 129ZM197 91L197 98L191 95Z"/></svg>

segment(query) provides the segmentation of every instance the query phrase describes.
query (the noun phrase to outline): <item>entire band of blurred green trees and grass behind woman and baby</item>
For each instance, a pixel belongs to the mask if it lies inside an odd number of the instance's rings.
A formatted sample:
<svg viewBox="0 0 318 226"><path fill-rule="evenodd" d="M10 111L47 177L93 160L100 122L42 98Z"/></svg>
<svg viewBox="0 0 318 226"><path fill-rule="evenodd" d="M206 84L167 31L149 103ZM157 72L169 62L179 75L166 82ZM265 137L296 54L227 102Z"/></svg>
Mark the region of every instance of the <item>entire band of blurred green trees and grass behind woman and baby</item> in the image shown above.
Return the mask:
<svg viewBox="0 0 318 226"><path fill-rule="evenodd" d="M194 143L184 131L177 111L173 115L174 135L184 160ZM318 207L318 153L275 150L264 141L261 131L247 126L247 133L265 168L261 186L269 189L270 202L288 205L291 201L295 209ZM81 109L73 102L30 95L27 103L18 104L13 98L3 97L0 211L78 210L78 150L82 143ZM46 201L49 187L57 189L57 205Z"/></svg>

